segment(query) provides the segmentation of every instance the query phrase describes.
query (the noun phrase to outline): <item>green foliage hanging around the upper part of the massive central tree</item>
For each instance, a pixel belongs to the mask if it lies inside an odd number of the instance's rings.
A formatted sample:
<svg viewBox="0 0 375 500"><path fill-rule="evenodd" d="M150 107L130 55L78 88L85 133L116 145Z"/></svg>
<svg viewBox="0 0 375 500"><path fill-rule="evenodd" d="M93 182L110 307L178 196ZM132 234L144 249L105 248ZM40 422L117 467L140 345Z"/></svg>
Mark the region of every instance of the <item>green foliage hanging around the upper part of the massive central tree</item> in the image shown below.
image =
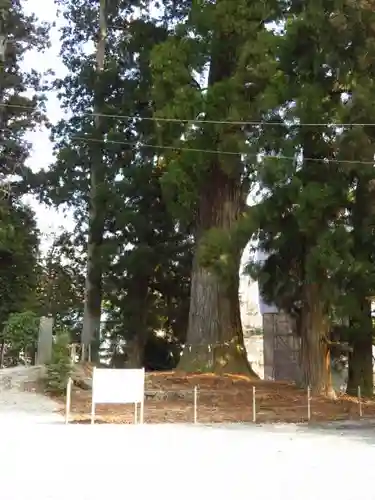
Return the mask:
<svg viewBox="0 0 375 500"><path fill-rule="evenodd" d="M158 136L167 146L164 192L172 212L190 223L197 221L214 163L245 183L253 172L257 131L225 122L262 120L277 101L276 84L270 86L277 74L277 37L265 27L265 20L276 15L275 6L268 1L193 2L153 50L155 116L167 119L160 122ZM216 155L220 151L232 154ZM252 158L242 163L237 152L251 152Z"/></svg>

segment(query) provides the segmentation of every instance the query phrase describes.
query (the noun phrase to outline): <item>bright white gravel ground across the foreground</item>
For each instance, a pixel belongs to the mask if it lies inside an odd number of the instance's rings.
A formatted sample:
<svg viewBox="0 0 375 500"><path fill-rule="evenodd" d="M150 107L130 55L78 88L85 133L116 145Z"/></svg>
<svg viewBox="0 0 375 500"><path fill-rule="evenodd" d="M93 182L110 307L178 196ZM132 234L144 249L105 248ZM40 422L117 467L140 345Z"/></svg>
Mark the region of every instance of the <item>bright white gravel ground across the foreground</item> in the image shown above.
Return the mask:
<svg viewBox="0 0 375 500"><path fill-rule="evenodd" d="M373 422L66 426L6 417L6 500L375 499Z"/></svg>

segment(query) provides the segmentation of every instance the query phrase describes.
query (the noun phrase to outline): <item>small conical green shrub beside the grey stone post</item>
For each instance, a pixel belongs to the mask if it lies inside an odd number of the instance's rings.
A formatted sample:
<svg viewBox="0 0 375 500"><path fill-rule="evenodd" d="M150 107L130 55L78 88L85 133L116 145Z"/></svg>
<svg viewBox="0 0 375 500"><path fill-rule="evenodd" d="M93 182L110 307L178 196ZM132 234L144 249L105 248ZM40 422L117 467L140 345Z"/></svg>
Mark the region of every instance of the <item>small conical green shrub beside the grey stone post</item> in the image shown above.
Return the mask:
<svg viewBox="0 0 375 500"><path fill-rule="evenodd" d="M66 390L72 372L69 344L69 332L66 330L58 331L52 347L51 361L46 366L45 385L51 394L61 395Z"/></svg>

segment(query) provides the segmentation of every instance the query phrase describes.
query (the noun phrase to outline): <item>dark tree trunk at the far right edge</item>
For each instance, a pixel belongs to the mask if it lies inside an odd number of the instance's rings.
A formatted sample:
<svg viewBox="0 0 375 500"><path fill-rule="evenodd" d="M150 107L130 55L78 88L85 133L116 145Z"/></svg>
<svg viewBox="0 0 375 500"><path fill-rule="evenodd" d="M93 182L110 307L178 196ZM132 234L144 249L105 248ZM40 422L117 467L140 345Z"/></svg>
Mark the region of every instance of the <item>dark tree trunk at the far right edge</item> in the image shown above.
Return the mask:
<svg viewBox="0 0 375 500"><path fill-rule="evenodd" d="M352 322L349 353L348 394L357 395L358 387L364 396L373 396L372 343L373 326L371 304L364 299L361 306L361 317Z"/></svg>

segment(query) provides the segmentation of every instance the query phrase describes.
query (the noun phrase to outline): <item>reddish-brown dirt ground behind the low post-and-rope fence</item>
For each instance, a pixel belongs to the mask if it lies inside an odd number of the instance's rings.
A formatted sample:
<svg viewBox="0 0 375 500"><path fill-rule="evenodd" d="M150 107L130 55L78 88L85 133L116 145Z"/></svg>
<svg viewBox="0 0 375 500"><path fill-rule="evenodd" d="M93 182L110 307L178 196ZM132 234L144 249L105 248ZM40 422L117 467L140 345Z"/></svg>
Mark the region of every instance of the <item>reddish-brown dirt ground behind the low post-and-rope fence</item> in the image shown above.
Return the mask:
<svg viewBox="0 0 375 500"><path fill-rule="evenodd" d="M158 372L146 375L145 423L193 422L194 387L197 387L199 423L252 422L253 387L258 423L308 420L307 392L290 383L253 381L242 376ZM58 401L65 405L65 398ZM359 419L360 409L363 418L374 418L375 400L362 399L360 405L357 398L347 396L335 401L313 397L310 403L312 421ZM91 391L73 387L70 421L87 423L90 413ZM134 405L98 404L96 422L133 423Z"/></svg>

